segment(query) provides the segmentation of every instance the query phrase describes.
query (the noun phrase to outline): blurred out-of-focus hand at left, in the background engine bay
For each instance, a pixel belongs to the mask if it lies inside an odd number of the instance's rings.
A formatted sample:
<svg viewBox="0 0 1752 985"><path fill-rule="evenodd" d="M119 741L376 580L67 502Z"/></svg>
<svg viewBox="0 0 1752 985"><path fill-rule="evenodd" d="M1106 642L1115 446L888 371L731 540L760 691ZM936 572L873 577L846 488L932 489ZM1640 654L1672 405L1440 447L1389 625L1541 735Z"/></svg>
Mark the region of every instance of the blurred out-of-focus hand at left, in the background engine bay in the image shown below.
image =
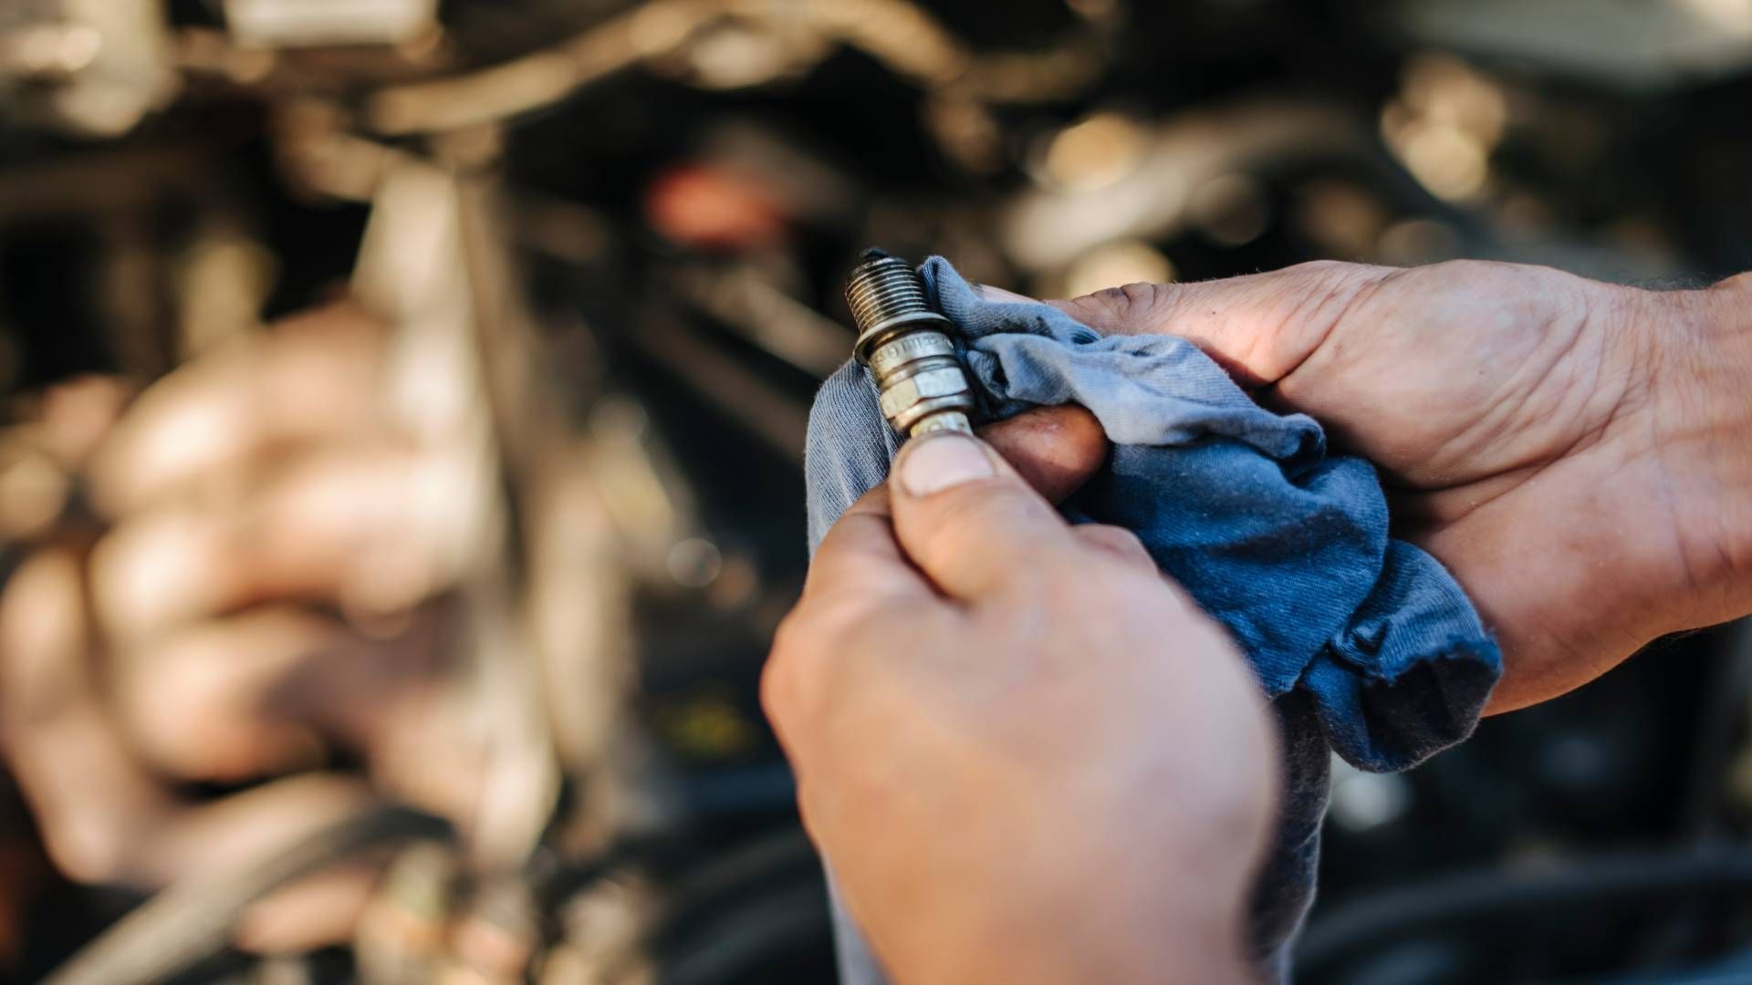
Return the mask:
<svg viewBox="0 0 1752 985"><path fill-rule="evenodd" d="M35 456L12 471L60 470L102 514L9 529L32 550L0 592L0 752L67 876L233 871L380 797L471 815L480 755L442 631L470 526L452 449L378 403L382 349L382 326L328 308L131 405L114 382L61 387L4 436ZM331 754L366 778L319 769ZM294 883L237 939L347 939L373 882Z"/></svg>

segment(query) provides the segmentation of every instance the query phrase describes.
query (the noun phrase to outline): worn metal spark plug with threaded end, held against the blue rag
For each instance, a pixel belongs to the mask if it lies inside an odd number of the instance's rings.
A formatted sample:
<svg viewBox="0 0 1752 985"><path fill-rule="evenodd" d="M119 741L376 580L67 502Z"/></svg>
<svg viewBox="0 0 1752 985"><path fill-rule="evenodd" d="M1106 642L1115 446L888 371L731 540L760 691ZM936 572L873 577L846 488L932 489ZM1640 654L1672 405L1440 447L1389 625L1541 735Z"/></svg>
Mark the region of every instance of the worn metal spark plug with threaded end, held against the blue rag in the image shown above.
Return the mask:
<svg viewBox="0 0 1752 985"><path fill-rule="evenodd" d="M913 438L972 433L972 386L950 340L950 319L930 307L918 272L880 249L867 251L846 279L846 303L858 324L853 352L876 377L888 424Z"/></svg>

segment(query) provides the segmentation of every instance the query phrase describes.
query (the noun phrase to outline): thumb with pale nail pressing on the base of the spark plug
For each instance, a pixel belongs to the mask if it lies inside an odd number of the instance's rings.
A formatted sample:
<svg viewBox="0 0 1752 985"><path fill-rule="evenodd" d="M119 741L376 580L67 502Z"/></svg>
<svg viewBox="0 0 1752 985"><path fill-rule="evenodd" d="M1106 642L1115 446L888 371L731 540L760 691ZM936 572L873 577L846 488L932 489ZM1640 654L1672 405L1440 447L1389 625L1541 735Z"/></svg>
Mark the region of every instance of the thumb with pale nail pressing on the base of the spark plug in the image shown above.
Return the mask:
<svg viewBox="0 0 1752 985"><path fill-rule="evenodd" d="M895 540L950 598L978 601L1079 552L1063 517L969 435L908 442L888 489Z"/></svg>

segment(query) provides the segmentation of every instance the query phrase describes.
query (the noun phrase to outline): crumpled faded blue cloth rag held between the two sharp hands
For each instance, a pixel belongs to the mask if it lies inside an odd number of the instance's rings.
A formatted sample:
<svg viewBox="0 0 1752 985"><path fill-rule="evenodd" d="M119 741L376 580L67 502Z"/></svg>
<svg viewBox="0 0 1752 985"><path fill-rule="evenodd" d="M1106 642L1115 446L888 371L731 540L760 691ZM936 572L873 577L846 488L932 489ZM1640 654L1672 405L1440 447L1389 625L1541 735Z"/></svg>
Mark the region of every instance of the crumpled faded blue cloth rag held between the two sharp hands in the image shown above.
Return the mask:
<svg viewBox="0 0 1752 985"><path fill-rule="evenodd" d="M1393 771L1465 740L1501 671L1496 643L1440 563L1388 536L1374 466L1326 454L1314 419L1258 407L1184 338L1102 337L1051 305L988 301L943 258L922 273L960 330L986 419L1079 403L1100 421L1113 454L1065 517L1137 533L1272 699L1286 789L1249 929L1261 967L1284 978L1314 899L1330 754ZM804 459L811 552L899 447L862 366L822 386ZM841 980L880 983L836 917Z"/></svg>

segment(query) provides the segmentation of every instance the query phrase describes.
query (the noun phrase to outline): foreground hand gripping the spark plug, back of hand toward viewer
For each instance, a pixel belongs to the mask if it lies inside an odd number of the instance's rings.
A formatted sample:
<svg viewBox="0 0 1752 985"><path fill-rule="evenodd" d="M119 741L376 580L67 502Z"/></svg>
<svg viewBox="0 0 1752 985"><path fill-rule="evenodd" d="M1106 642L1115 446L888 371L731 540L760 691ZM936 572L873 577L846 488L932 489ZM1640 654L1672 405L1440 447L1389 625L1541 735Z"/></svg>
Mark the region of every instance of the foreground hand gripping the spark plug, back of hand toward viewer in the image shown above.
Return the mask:
<svg viewBox="0 0 1752 985"><path fill-rule="evenodd" d="M1099 464L1081 412L988 435L1053 494ZM1246 980L1258 685L1137 538L1067 526L988 445L913 440L841 517L764 699L899 981Z"/></svg>

